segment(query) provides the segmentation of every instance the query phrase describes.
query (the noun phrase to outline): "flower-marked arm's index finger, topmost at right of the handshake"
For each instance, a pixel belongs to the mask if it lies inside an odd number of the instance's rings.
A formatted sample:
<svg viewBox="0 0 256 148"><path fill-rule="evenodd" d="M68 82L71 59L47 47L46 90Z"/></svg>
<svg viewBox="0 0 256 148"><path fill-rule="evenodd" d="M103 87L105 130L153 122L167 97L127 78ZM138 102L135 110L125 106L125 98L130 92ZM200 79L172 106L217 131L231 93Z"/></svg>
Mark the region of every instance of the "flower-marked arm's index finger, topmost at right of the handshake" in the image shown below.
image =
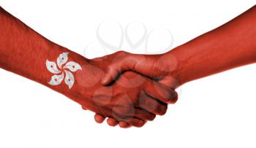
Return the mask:
<svg viewBox="0 0 256 148"><path fill-rule="evenodd" d="M178 94L175 90L165 85L161 85L159 82L146 81L144 90L148 96L157 98L157 100L162 101L166 104L173 104L178 98Z"/></svg>

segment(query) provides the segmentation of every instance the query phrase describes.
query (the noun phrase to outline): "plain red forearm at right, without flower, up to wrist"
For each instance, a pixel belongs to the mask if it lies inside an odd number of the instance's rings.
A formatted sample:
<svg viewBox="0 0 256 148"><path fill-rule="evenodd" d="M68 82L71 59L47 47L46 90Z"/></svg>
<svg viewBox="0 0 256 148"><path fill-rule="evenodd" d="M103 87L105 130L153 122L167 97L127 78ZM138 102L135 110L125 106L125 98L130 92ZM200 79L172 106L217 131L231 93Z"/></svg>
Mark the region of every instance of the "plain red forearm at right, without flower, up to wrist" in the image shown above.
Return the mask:
<svg viewBox="0 0 256 148"><path fill-rule="evenodd" d="M178 61L181 84L256 61L256 7L167 54Z"/></svg>

